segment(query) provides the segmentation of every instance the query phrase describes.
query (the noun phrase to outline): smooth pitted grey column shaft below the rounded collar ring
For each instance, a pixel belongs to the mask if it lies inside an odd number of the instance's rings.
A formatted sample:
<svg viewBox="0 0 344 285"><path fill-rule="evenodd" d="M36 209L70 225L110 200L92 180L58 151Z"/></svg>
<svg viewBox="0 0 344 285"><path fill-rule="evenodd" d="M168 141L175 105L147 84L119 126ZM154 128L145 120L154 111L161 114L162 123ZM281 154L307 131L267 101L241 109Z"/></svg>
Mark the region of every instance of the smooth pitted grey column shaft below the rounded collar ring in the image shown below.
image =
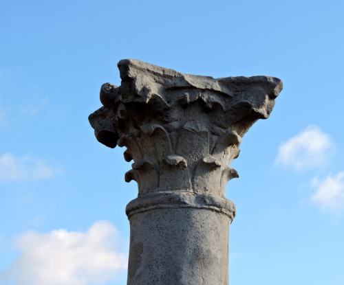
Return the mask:
<svg viewBox="0 0 344 285"><path fill-rule="evenodd" d="M127 284L228 285L230 221L209 209L134 214Z"/></svg>

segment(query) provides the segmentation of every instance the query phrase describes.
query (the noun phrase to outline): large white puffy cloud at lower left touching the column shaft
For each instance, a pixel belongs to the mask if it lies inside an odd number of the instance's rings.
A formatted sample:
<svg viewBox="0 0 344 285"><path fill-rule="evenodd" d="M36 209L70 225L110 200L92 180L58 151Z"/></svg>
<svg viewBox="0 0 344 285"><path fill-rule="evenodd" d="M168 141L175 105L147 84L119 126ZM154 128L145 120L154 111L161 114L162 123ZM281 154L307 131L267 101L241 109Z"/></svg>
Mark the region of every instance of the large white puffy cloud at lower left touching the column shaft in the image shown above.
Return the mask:
<svg viewBox="0 0 344 285"><path fill-rule="evenodd" d="M21 254L0 274L0 284L103 284L127 269L127 254L118 251L118 231L106 221L94 223L86 232L23 233L17 247Z"/></svg>

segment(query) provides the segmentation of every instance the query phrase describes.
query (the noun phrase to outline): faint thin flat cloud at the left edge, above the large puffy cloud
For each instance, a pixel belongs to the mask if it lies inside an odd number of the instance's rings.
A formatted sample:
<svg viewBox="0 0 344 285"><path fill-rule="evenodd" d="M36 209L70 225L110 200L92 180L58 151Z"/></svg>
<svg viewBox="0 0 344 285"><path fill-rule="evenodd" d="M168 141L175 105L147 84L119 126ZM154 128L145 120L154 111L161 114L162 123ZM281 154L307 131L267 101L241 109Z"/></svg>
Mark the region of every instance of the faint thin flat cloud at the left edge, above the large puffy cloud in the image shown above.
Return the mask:
<svg viewBox="0 0 344 285"><path fill-rule="evenodd" d="M46 159L24 155L15 157L10 153L0 156L0 181L27 181L48 179L60 171L50 166Z"/></svg>

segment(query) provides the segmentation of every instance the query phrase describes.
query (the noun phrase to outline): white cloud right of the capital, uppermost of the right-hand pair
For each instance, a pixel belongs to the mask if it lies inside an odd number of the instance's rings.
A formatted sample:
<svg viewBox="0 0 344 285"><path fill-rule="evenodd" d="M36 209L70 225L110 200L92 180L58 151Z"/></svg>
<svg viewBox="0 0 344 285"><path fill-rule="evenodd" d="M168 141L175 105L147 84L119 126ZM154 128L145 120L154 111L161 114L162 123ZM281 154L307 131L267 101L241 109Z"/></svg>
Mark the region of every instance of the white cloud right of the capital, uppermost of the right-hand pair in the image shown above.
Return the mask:
<svg viewBox="0 0 344 285"><path fill-rule="evenodd" d="M306 170L322 166L331 154L330 135L317 126L308 126L281 144L276 163L296 170Z"/></svg>

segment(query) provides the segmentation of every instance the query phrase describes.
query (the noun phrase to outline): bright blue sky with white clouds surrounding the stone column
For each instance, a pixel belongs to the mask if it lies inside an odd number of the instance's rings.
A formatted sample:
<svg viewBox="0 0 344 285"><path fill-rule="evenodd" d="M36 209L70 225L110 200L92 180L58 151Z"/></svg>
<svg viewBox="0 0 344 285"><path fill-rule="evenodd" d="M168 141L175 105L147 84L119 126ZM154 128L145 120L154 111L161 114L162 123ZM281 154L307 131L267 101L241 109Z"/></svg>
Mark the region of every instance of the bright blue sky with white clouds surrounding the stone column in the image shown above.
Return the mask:
<svg viewBox="0 0 344 285"><path fill-rule="evenodd" d="M87 121L117 62L284 89L232 166L230 284L343 285L344 2L3 1L0 284L126 284L137 195Z"/></svg>

